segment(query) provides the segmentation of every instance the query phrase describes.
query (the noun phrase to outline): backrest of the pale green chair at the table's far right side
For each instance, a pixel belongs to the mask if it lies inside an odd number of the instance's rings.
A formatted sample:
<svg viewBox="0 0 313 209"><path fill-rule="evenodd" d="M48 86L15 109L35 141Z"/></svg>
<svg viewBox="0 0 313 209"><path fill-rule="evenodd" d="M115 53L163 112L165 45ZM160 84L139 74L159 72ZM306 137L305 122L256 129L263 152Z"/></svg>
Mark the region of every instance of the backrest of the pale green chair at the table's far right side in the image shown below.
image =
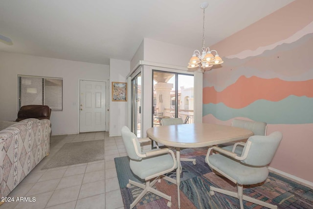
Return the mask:
<svg viewBox="0 0 313 209"><path fill-rule="evenodd" d="M265 122L233 119L231 126L248 129L252 131L254 135L258 135L258 136L266 135L267 123Z"/></svg>

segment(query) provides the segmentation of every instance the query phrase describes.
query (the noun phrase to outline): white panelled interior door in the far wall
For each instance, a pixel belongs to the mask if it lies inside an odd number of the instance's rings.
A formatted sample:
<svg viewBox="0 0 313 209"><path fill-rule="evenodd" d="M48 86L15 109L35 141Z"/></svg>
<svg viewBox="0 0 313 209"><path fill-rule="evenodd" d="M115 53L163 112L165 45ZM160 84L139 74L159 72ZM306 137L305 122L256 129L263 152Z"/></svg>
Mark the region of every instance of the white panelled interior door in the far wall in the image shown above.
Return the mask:
<svg viewBox="0 0 313 209"><path fill-rule="evenodd" d="M79 132L105 131L106 82L80 80Z"/></svg>

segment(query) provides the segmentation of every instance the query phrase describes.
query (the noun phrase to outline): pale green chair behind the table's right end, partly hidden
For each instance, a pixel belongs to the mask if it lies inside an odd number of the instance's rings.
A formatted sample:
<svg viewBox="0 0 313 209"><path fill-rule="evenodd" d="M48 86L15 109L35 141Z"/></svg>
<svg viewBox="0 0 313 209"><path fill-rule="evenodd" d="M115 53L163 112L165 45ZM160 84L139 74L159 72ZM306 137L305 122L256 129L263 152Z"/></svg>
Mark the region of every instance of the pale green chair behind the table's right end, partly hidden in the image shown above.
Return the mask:
<svg viewBox="0 0 313 209"><path fill-rule="evenodd" d="M266 136L266 132L267 132L267 123L265 122L233 119L231 122L231 126L248 129L254 133L254 136ZM241 145L240 142L237 142L236 146L234 146L234 144L235 144L234 142L229 142L229 143L220 144L219 146L225 150L234 152L237 155L241 155L243 152L244 146ZM236 149L234 149L234 147L236 147Z"/></svg>

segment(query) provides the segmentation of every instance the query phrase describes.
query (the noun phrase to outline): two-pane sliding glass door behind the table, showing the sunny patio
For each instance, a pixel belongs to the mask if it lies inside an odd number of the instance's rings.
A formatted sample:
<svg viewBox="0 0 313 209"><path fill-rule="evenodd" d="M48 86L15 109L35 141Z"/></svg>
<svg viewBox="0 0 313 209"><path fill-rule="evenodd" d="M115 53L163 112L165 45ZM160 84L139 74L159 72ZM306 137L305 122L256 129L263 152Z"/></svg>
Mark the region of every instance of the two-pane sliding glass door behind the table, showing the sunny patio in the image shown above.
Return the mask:
<svg viewBox="0 0 313 209"><path fill-rule="evenodd" d="M153 121L159 126L162 118L180 117L193 123L194 76L153 70Z"/></svg>

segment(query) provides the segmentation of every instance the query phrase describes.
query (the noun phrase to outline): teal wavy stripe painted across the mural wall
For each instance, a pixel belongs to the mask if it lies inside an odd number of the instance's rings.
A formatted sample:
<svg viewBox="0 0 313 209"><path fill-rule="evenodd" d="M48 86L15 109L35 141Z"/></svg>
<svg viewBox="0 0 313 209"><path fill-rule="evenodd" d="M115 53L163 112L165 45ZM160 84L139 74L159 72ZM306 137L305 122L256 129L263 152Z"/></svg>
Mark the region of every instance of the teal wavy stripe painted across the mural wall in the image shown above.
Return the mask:
<svg viewBox="0 0 313 209"><path fill-rule="evenodd" d="M203 104L202 109L203 116L212 114L223 121L247 117L268 124L313 123L313 98L306 96L291 95L278 102L260 99L241 109L229 108L223 103L209 103Z"/></svg>

